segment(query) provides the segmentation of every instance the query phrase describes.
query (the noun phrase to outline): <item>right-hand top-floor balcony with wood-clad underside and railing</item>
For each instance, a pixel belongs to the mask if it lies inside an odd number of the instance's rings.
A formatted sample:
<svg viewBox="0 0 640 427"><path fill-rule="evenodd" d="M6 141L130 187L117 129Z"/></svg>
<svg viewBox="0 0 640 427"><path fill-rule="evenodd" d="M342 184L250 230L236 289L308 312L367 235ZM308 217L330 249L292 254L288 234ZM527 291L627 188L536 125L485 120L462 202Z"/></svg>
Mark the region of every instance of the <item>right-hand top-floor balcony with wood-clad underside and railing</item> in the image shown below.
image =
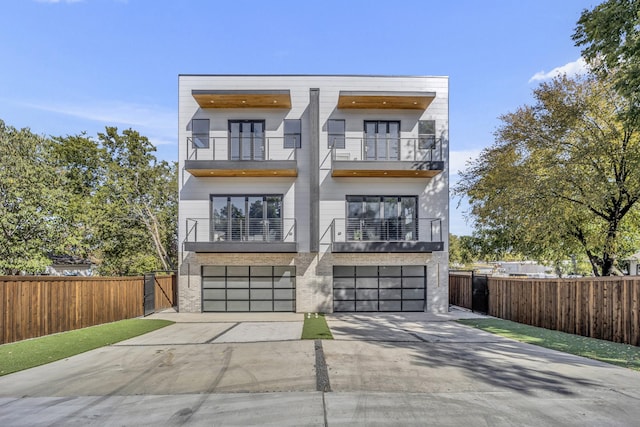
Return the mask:
<svg viewBox="0 0 640 427"><path fill-rule="evenodd" d="M442 139L336 138L331 176L433 178L444 169Z"/></svg>

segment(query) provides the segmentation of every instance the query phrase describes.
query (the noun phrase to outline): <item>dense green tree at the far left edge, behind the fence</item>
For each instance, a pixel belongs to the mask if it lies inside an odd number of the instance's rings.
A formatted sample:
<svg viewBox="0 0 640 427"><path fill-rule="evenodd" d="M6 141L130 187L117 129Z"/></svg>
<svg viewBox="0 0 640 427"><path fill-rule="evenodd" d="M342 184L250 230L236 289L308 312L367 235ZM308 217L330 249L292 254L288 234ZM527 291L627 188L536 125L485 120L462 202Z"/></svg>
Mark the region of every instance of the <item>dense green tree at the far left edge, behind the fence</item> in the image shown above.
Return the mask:
<svg viewBox="0 0 640 427"><path fill-rule="evenodd" d="M48 162L49 141L0 120L0 272L43 271L61 244L64 192Z"/></svg>

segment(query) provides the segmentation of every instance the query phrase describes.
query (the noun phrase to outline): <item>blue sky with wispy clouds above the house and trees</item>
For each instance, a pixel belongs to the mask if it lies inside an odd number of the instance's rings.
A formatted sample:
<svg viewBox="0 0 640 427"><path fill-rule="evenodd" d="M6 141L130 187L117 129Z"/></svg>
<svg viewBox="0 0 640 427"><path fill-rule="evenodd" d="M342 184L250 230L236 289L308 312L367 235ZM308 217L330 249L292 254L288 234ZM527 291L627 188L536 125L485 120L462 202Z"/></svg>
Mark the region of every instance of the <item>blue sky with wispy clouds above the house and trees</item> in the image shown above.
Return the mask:
<svg viewBox="0 0 640 427"><path fill-rule="evenodd" d="M558 69L596 0L5 0L0 119L46 135L132 127L177 160L178 74L446 75L451 181ZM578 62L576 62L578 61ZM470 234L451 202L451 231Z"/></svg>

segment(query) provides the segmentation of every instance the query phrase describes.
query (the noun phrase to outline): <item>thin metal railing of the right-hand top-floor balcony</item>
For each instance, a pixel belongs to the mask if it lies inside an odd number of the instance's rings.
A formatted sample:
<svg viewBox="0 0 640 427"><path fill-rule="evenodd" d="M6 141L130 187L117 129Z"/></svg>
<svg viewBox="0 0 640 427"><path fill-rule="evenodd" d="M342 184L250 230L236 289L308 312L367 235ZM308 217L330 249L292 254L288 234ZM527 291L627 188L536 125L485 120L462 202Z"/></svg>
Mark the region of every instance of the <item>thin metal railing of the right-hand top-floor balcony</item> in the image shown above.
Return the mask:
<svg viewBox="0 0 640 427"><path fill-rule="evenodd" d="M338 161L444 161L442 138L336 137L329 141L331 159Z"/></svg>

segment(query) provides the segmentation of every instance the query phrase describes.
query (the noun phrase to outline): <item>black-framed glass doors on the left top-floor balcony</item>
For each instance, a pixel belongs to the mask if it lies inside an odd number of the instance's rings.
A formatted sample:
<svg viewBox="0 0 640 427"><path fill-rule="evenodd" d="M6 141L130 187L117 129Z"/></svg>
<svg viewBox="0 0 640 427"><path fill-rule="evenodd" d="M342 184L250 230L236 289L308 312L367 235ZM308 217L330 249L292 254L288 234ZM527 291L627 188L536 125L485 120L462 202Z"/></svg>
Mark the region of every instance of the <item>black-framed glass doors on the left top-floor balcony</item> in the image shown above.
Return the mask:
<svg viewBox="0 0 640 427"><path fill-rule="evenodd" d="M230 120L229 160L264 160L264 130L264 120Z"/></svg>

